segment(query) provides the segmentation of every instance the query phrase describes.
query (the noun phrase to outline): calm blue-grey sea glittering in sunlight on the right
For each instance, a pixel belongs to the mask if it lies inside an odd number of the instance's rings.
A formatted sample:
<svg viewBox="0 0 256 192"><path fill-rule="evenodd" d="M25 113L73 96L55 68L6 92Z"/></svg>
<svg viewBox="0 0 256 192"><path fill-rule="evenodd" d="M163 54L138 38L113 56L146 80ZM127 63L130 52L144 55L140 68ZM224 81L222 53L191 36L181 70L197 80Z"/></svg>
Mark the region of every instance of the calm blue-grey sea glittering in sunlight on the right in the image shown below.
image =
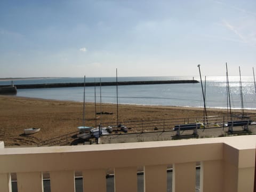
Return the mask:
<svg viewBox="0 0 256 192"><path fill-rule="evenodd" d="M225 109L227 105L226 76L200 77L118 77L117 81L161 81L195 79L199 83L124 85L85 87L85 102L117 103L145 106L178 106ZM256 109L256 91L253 76L230 76L230 105L233 109ZM47 77L1 79L0 85L83 83L84 77ZM116 82L116 77L86 77L86 82ZM242 86L241 86L242 85ZM18 89L17 97L42 98L83 102L84 87L49 89ZM242 102L241 102L242 101Z"/></svg>

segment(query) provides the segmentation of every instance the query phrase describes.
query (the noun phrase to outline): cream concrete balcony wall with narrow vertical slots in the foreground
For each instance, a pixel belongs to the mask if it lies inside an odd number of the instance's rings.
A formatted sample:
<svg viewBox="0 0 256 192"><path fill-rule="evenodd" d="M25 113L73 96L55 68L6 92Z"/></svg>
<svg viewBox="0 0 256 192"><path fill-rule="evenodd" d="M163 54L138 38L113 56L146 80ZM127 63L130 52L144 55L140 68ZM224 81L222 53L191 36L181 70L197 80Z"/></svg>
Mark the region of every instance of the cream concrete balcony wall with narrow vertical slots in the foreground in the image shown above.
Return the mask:
<svg viewBox="0 0 256 192"><path fill-rule="evenodd" d="M0 191L43 191L49 172L51 191L75 191L74 172L82 171L84 191L106 191L106 172L115 173L115 191L137 191L137 167L144 167L144 190L195 191L195 165L201 162L200 191L250 192L254 185L256 135L225 138L119 143L91 146L4 148L0 142Z"/></svg>

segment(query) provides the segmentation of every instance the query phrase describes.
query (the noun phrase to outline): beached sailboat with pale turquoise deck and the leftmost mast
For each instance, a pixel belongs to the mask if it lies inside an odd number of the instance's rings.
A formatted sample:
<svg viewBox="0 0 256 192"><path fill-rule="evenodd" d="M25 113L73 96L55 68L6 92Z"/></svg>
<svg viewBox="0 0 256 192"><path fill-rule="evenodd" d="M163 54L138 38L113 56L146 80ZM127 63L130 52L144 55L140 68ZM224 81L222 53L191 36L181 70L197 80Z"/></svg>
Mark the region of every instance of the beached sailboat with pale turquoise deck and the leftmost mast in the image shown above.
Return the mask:
<svg viewBox="0 0 256 192"><path fill-rule="evenodd" d="M78 138L81 139L89 139L91 137L90 130L93 127L85 126L85 76L84 76L84 102L83 102L83 126L78 126L79 134L77 134Z"/></svg>

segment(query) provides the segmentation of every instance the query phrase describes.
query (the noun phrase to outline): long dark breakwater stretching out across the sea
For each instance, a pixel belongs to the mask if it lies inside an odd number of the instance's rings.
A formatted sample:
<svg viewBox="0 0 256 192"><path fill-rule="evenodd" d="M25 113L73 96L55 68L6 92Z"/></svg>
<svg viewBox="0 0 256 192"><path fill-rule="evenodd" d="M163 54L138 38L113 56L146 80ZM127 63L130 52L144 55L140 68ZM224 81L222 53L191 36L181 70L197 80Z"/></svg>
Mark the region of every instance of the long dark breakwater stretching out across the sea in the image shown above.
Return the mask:
<svg viewBox="0 0 256 192"><path fill-rule="evenodd" d="M126 82L88 82L85 86L115 86L115 85L153 85L153 84L177 84L177 83L199 83L196 80L171 80L171 81L126 81ZM39 89L57 87L78 87L84 83L49 83L49 84L23 84L16 85L17 89Z"/></svg>

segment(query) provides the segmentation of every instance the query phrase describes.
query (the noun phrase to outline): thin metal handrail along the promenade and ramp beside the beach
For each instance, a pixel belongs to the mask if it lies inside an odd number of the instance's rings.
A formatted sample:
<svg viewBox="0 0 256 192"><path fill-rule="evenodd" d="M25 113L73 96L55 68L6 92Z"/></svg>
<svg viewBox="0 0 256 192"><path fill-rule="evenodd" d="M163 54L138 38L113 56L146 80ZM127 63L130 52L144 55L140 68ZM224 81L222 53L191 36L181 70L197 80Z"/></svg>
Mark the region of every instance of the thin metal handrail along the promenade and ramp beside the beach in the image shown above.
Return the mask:
<svg viewBox="0 0 256 192"><path fill-rule="evenodd" d="M201 129L215 129L215 128L224 128L227 127L228 121L230 120L227 115L220 116L208 116L207 124L203 124ZM234 119L234 118L233 118ZM239 116L237 117L239 119ZM256 115L251 116L251 121L256 121ZM191 123L203 123L204 117L189 117L189 118L175 118L175 119L149 119L149 120L140 120L140 121L121 121L120 123L127 127L129 130L135 130L136 133L143 132L162 132L162 131L173 131L175 125L179 124L191 124ZM235 119L234 119L235 120ZM111 134L120 134L121 132L116 133L116 131L122 131L121 127L116 127L116 122L112 123L102 123L101 127L113 126L113 133ZM129 134L134 133L128 131ZM71 136L78 134L79 131L66 133L58 137L54 137L45 141L38 142L37 146L53 146L60 145L61 143L68 142L75 139Z"/></svg>

